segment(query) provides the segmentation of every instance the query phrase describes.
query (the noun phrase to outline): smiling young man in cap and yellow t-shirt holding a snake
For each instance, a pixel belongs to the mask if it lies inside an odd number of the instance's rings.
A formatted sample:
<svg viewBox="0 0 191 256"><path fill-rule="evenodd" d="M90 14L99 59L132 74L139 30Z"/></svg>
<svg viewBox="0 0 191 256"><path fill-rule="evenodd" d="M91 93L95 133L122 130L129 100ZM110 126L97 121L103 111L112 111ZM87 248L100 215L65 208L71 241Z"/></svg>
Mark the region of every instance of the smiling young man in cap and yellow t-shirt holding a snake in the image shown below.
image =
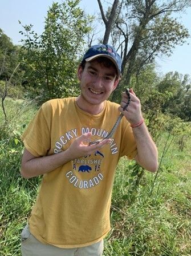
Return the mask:
<svg viewBox="0 0 191 256"><path fill-rule="evenodd" d="M157 170L157 149L133 90L127 109L126 93L121 105L107 101L120 72L121 58L112 46L92 46L78 68L79 97L47 101L23 134L21 174L43 179L22 231L22 255L101 255L120 157ZM120 112L116 132L105 139Z"/></svg>

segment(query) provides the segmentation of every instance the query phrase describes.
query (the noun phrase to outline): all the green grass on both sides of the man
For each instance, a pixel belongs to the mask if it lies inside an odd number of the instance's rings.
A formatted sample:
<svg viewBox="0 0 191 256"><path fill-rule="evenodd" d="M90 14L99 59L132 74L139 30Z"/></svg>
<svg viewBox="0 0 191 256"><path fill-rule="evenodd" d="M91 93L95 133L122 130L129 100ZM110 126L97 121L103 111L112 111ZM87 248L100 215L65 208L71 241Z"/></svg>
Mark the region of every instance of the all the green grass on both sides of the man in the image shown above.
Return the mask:
<svg viewBox="0 0 191 256"><path fill-rule="evenodd" d="M19 136L37 108L11 99L5 107L7 123L0 109L0 255L14 256L21 255L21 230L40 183L40 178L25 180L19 174L23 151ZM167 137L163 134L159 140L160 157ZM113 187L112 230L105 239L104 256L191 255L191 146L188 141L180 151L177 141L173 140L162 159L155 186L156 174L145 171L131 192L136 179L134 163L120 160Z"/></svg>

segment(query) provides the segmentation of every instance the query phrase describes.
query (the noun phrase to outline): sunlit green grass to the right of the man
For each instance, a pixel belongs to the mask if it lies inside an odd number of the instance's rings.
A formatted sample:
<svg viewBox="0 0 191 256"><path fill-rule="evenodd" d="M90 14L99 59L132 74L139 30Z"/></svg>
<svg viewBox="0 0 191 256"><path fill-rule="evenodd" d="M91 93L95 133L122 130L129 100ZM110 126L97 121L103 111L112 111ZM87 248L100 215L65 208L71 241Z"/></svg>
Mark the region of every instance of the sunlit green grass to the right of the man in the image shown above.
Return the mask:
<svg viewBox="0 0 191 256"><path fill-rule="evenodd" d="M160 156L162 155L161 143ZM190 147L180 152L176 140L156 174L145 172L135 200L125 202L131 165L120 160L111 208L113 229L104 255L189 256L191 238Z"/></svg>

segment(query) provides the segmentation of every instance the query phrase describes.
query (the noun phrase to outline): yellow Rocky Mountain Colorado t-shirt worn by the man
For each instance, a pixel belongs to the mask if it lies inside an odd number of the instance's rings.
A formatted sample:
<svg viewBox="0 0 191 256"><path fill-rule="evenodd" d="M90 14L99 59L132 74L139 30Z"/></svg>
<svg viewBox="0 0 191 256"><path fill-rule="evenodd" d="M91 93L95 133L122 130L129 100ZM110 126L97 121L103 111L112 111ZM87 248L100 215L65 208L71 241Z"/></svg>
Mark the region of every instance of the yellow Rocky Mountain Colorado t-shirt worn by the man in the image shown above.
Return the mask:
<svg viewBox="0 0 191 256"><path fill-rule="evenodd" d="M119 116L119 105L105 101L98 115L82 111L75 97L47 101L22 135L34 156L66 150L85 132L103 139ZM31 233L42 243L61 248L83 247L103 239L110 230L109 210L119 158L136 155L132 129L123 117L111 143L43 175L29 218Z"/></svg>

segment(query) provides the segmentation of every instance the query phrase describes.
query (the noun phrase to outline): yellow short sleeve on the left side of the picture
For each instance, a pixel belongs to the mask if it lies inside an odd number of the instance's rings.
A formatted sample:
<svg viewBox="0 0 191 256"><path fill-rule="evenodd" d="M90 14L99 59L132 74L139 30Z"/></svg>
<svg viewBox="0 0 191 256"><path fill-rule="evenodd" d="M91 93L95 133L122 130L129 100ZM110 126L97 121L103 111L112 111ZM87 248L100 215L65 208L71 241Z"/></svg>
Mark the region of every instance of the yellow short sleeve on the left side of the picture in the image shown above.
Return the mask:
<svg viewBox="0 0 191 256"><path fill-rule="evenodd" d="M45 103L31 120L21 136L25 148L34 156L45 156L50 149L50 111ZM49 107L50 108L50 107ZM48 116L45 115L48 113Z"/></svg>

